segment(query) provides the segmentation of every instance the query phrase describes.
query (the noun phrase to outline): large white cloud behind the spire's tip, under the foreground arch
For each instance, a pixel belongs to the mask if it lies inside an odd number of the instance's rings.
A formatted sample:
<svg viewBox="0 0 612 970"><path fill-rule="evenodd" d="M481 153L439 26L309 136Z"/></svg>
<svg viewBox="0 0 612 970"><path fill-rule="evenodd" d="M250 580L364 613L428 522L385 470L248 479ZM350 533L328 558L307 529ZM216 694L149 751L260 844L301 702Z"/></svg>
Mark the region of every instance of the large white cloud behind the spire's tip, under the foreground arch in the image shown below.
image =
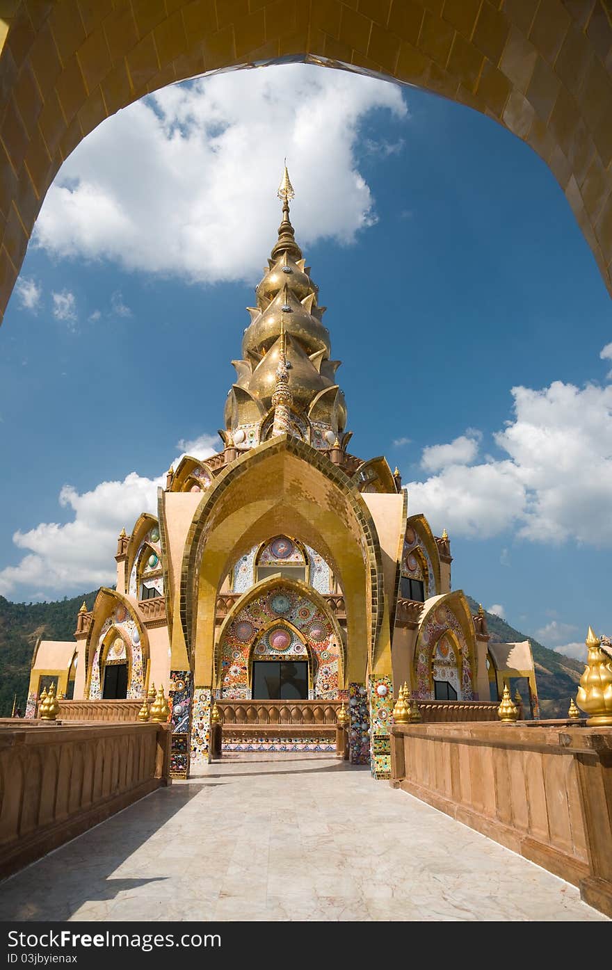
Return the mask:
<svg viewBox="0 0 612 970"><path fill-rule="evenodd" d="M75 149L48 191L34 244L190 281L252 279L274 242L285 155L299 241L352 242L375 221L355 158L374 109L406 117L401 89L298 64L164 88Z"/></svg>

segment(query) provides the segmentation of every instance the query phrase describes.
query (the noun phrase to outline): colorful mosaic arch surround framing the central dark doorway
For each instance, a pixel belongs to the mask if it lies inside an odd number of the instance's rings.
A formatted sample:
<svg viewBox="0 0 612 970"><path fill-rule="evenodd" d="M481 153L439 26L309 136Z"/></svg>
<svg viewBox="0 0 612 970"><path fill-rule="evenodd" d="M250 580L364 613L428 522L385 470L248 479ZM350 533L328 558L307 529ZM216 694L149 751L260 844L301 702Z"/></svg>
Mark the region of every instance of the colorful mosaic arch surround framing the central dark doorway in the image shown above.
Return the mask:
<svg viewBox="0 0 612 970"><path fill-rule="evenodd" d="M253 655L305 660L308 651L314 665L312 696L336 699L339 645L332 625L314 602L279 584L252 599L225 630L218 653L222 696L250 697L248 664Z"/></svg>

